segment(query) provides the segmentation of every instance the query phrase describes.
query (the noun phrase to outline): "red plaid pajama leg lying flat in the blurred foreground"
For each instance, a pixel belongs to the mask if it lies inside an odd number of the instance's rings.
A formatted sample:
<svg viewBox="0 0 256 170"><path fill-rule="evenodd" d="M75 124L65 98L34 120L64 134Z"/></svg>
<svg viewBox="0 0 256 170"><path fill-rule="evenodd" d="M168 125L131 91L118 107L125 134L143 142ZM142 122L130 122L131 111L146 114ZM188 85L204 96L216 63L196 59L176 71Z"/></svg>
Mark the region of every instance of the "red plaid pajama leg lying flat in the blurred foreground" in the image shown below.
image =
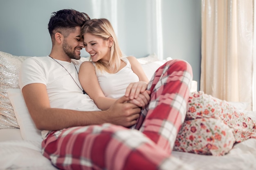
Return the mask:
<svg viewBox="0 0 256 170"><path fill-rule="evenodd" d="M43 155L65 170L180 170L186 165L143 133L113 124L54 131L42 142Z"/></svg>

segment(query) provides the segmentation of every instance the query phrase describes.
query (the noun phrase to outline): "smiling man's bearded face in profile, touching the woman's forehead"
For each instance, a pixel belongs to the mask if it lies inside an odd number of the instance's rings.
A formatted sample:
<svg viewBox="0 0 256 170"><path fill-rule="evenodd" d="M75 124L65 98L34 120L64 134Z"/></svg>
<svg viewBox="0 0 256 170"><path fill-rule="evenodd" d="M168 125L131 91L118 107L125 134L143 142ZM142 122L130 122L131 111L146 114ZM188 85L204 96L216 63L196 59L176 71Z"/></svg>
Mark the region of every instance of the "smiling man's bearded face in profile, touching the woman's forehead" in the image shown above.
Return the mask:
<svg viewBox="0 0 256 170"><path fill-rule="evenodd" d="M67 54L70 59L77 59L81 58L80 50L84 47L83 41L80 38L80 30L79 26L76 26L74 32L70 33L63 41L62 48L65 54Z"/></svg>

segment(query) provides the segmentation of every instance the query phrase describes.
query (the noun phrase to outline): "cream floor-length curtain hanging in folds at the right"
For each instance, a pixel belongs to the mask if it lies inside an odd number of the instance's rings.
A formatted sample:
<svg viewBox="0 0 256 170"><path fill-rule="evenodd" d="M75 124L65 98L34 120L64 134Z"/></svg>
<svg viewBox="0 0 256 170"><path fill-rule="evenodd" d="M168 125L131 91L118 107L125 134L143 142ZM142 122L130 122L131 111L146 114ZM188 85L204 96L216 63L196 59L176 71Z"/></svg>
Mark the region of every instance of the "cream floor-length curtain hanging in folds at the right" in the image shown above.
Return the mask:
<svg viewBox="0 0 256 170"><path fill-rule="evenodd" d="M253 0L202 0L200 90L252 109Z"/></svg>

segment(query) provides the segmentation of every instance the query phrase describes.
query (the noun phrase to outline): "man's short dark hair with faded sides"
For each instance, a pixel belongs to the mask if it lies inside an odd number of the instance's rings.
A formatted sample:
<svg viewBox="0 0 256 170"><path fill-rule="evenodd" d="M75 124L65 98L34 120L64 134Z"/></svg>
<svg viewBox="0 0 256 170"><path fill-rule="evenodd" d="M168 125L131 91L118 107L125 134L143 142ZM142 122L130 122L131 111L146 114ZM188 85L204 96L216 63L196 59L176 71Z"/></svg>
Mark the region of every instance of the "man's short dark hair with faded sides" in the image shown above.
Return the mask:
<svg viewBox="0 0 256 170"><path fill-rule="evenodd" d="M74 9L62 9L52 13L48 30L52 39L57 32L67 36L70 31L74 31L76 26L83 26L88 20L90 17L86 13Z"/></svg>

